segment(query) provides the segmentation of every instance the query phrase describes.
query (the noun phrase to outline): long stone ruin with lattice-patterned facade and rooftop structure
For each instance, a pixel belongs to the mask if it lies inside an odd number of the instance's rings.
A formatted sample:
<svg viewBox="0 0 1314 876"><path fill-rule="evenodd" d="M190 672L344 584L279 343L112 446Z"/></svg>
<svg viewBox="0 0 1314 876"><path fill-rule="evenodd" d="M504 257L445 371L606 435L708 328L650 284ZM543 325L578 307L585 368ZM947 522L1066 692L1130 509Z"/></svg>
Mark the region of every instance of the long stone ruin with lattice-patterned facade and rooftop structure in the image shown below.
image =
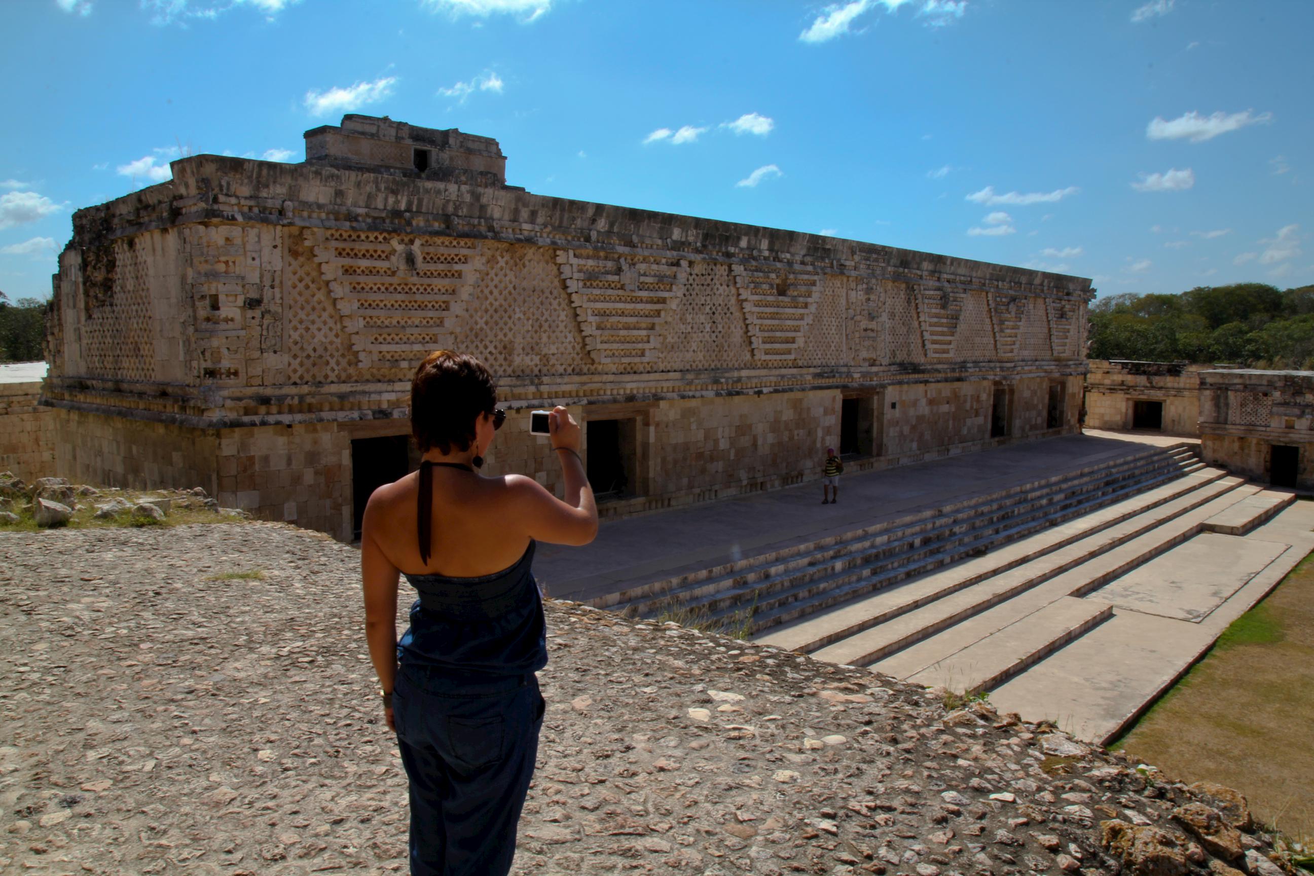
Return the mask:
<svg viewBox="0 0 1314 876"><path fill-rule="evenodd" d="M485 471L557 487L523 411L576 406L608 516L796 483L828 444L855 471L1077 428L1088 280L537 196L455 129L305 139L301 164L184 158L74 215L58 474L350 540L415 464L409 380L436 348L498 377Z"/></svg>

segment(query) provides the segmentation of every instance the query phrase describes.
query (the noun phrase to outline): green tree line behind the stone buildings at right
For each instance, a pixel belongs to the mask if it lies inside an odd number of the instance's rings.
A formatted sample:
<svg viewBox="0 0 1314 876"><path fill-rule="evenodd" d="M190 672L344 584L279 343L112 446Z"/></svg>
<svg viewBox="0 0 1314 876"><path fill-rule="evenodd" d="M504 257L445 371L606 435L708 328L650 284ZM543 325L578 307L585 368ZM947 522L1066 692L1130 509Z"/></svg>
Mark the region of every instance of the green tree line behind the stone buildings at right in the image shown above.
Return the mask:
<svg viewBox="0 0 1314 876"><path fill-rule="evenodd" d="M1089 339L1091 359L1314 369L1314 286L1106 296L1091 305Z"/></svg>

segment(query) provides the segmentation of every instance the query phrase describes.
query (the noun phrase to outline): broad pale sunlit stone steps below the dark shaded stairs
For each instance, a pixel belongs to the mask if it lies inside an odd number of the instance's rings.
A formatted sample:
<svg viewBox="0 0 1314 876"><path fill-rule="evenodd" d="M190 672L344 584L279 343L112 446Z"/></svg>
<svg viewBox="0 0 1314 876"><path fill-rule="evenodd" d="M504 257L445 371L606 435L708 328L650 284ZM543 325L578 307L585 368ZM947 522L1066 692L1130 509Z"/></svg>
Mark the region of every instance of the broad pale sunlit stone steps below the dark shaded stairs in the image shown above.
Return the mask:
<svg viewBox="0 0 1314 876"><path fill-rule="evenodd" d="M992 691L1113 619L1099 595L1084 596L1200 533L1246 535L1294 500L1201 466L756 640L928 687ZM1156 695L1146 691L1146 701Z"/></svg>

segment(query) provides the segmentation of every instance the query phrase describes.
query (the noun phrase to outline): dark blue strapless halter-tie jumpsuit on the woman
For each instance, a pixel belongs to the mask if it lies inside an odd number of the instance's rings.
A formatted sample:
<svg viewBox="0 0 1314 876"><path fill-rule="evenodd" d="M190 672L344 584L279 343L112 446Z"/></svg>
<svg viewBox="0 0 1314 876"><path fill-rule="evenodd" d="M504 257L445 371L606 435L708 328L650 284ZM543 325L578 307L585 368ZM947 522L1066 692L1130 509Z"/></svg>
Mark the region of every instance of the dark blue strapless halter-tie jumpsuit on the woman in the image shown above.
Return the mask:
<svg viewBox="0 0 1314 876"><path fill-rule="evenodd" d="M420 517L427 562L428 515ZM397 644L393 718L410 784L415 876L511 869L543 726L535 671L548 663L533 546L491 575L406 575L419 599Z"/></svg>

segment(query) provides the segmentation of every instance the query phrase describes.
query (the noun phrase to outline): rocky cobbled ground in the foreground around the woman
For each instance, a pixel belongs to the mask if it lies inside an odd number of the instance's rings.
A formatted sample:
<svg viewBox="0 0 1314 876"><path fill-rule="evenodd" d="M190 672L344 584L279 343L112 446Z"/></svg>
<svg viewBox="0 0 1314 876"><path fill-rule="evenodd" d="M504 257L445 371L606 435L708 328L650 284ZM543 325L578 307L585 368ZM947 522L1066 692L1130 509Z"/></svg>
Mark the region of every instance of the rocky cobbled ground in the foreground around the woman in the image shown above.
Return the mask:
<svg viewBox="0 0 1314 876"><path fill-rule="evenodd" d="M548 625L515 872L1294 872L1234 792L986 703L573 603ZM350 546L0 533L0 676L3 872L406 871Z"/></svg>

